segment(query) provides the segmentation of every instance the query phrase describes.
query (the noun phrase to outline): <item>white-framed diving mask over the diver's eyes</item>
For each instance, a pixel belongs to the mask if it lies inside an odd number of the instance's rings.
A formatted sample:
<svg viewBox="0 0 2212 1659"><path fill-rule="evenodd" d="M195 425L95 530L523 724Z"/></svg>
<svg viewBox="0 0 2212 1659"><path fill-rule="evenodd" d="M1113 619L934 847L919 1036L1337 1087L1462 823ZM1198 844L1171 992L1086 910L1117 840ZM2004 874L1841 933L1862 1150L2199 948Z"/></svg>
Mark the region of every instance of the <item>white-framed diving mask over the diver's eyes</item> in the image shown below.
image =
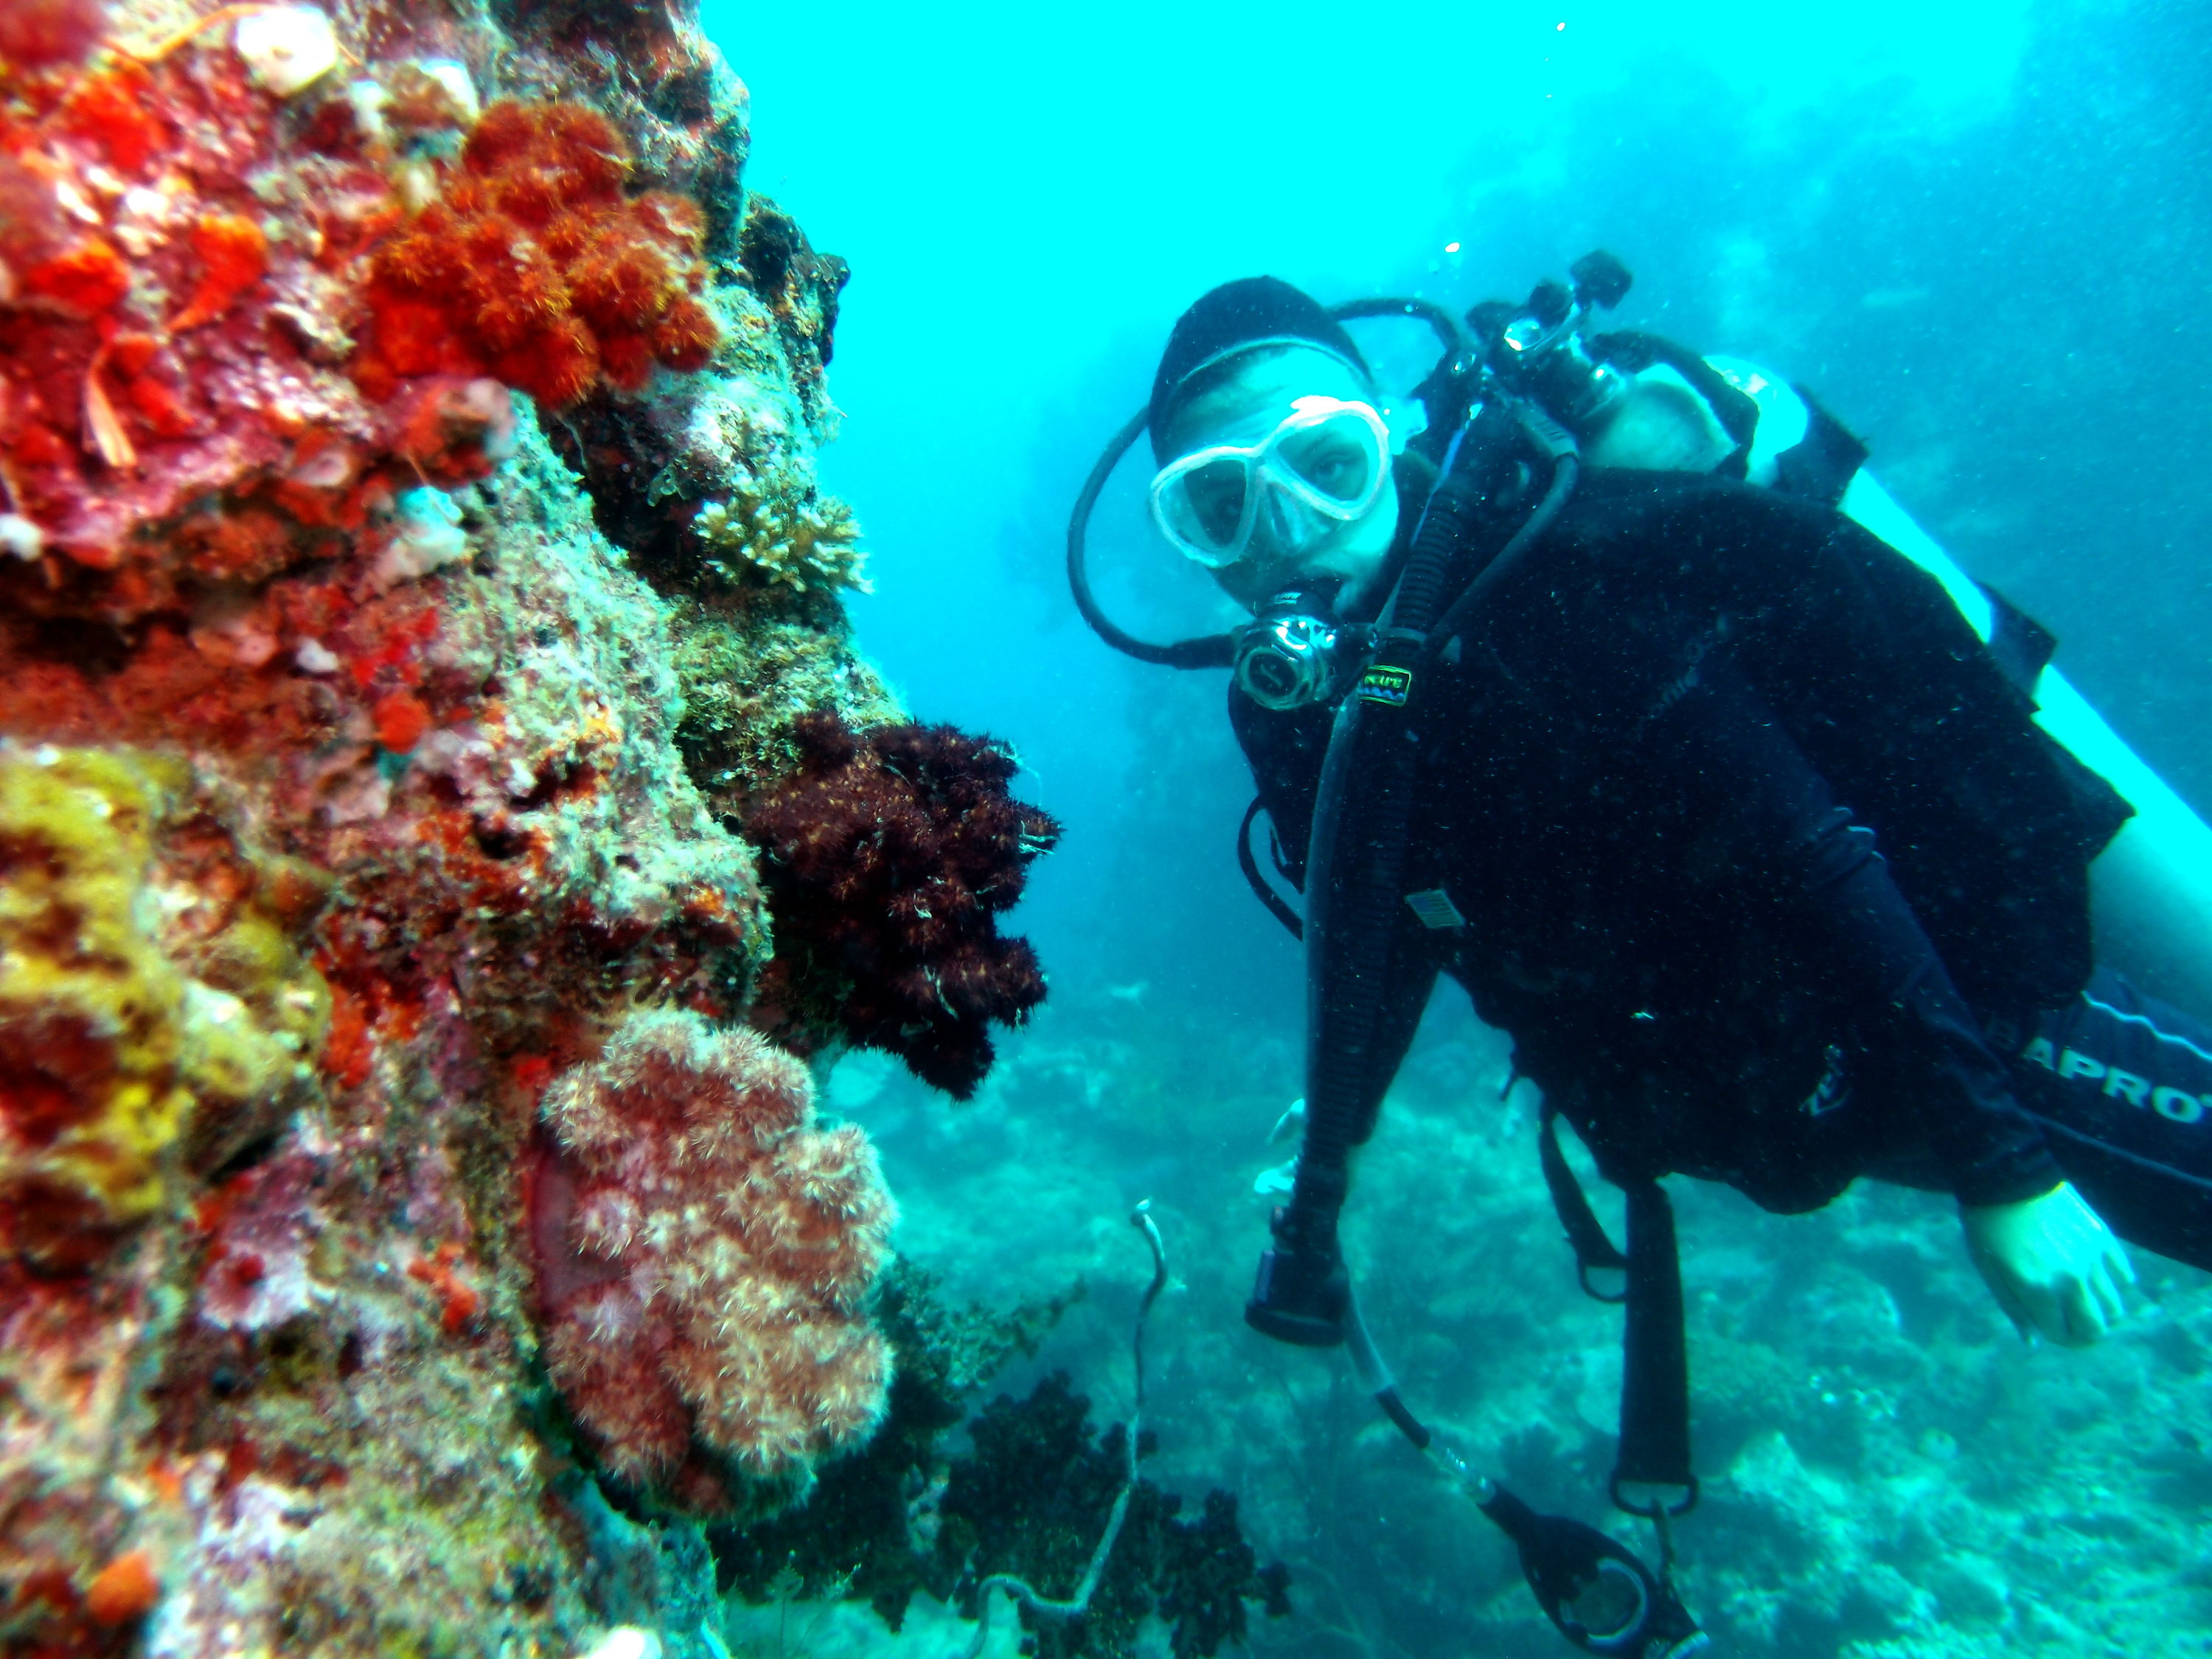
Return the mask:
<svg viewBox="0 0 2212 1659"><path fill-rule="evenodd" d="M1210 571L1254 542L1294 557L1389 487L1389 427L1365 403L1298 398L1256 445L1210 445L1152 478L1152 522Z"/></svg>

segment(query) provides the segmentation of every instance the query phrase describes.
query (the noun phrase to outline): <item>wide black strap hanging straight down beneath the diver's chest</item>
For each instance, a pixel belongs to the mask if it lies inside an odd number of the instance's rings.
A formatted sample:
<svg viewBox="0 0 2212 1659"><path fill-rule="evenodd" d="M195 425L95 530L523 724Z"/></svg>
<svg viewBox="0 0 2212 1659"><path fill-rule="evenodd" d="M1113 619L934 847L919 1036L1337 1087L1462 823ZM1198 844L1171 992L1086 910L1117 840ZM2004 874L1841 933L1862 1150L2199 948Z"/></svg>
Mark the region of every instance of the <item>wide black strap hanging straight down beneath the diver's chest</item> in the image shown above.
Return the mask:
<svg viewBox="0 0 2212 1659"><path fill-rule="evenodd" d="M1621 1334L1621 1449L1613 1460L1613 1504L1630 1515L1688 1515L1697 1509L1690 1473L1690 1352L1683 1338L1681 1259L1674 1206L1652 1179L1630 1181L1628 1321ZM1628 1502L1624 1484L1681 1486L1683 1500Z"/></svg>

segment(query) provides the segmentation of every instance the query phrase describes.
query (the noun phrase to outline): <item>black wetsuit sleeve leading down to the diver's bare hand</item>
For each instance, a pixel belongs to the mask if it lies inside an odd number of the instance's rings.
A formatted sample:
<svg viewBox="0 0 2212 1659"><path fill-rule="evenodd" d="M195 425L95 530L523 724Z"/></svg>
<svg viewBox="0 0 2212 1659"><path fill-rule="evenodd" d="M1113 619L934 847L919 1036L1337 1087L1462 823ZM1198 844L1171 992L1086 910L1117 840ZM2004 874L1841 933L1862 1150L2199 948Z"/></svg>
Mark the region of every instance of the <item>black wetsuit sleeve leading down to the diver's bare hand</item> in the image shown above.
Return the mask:
<svg viewBox="0 0 2212 1659"><path fill-rule="evenodd" d="M1650 726L1657 761L1714 803L1717 830L1761 872L1834 987L1871 1011L1918 1075L1916 1128L1962 1203L2011 1203L2064 1177L2004 1062L1889 876L1874 834L1725 659Z"/></svg>

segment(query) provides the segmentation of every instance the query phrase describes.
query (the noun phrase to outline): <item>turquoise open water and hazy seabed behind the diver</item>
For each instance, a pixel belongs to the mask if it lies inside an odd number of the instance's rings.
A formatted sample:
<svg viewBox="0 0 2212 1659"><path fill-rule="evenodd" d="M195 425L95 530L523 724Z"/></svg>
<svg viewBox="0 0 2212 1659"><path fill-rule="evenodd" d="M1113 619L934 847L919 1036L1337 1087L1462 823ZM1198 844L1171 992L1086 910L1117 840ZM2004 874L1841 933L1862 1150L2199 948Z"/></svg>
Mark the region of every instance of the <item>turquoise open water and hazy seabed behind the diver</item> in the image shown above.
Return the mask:
<svg viewBox="0 0 2212 1659"><path fill-rule="evenodd" d="M1267 1128L1298 1093L1298 953L1237 874L1221 675L1082 626L1071 498L1219 281L1460 310L1604 246L1637 276L1626 321L1805 383L2212 807L2212 15L1146 0L706 24L752 91L748 188L854 268L823 478L872 549L863 648L916 717L1009 739L1066 825L1013 918L1053 1000L982 1097L865 1055L832 1082L885 1148L902 1248L971 1296L1086 1281L1035 1369L1115 1416L1144 1276L1121 1214L1157 1199L1183 1294L1152 1338L1155 1473L1234 1489L1298 1575L1298 1617L1254 1641L1555 1652L1504 1544L1349 1378L1237 1318L1252 1177L1287 1157ZM1418 330L1363 338L1398 387L1422 372ZM1102 591L1155 635L1221 626L1141 482L1130 462L1102 502ZM1502 1082L1500 1042L1440 998L1356 1248L1409 1389L1604 1522L1615 1325L1575 1296L1533 1106ZM2212 1650L2203 1276L2146 1259L2128 1334L2031 1354L1931 1199L1774 1219L1697 1192L1683 1225L1712 1486L1686 1584L1730 1646Z"/></svg>

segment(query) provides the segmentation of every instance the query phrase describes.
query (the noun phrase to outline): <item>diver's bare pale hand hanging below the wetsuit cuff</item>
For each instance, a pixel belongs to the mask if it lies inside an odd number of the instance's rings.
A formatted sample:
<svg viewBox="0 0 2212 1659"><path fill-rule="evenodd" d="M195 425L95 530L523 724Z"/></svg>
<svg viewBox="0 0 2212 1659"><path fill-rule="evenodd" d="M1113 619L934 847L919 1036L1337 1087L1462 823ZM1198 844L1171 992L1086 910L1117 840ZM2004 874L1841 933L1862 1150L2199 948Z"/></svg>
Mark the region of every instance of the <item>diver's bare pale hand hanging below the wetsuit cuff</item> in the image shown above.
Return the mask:
<svg viewBox="0 0 2212 1659"><path fill-rule="evenodd" d="M1966 1254L2020 1336L2088 1347L2117 1325L2135 1267L2070 1181L2020 1203L1960 1206Z"/></svg>

